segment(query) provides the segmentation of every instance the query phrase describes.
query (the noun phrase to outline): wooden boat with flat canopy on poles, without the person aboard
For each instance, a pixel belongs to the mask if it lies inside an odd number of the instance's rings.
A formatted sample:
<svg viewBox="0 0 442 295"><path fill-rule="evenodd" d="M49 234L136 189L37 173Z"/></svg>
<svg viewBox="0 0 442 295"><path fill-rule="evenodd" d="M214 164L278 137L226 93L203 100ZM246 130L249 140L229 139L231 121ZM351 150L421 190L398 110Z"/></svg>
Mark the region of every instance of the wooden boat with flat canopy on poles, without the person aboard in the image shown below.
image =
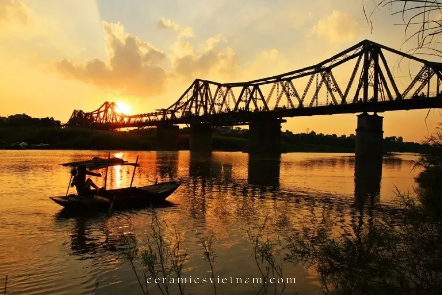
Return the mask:
<svg viewBox="0 0 442 295"><path fill-rule="evenodd" d="M134 173L132 175L131 186L126 188L117 188L110 190L91 190L89 196L77 196L74 194L59 197L49 197L55 203L65 207L69 210L86 211L86 210L100 210L113 208L128 208L135 206L145 206L158 204L168 196L170 196L180 185L180 181L169 181L163 183L157 183L153 185L147 185L142 187L132 186L134 180L135 168L139 166L138 156L135 163L128 163L118 158L100 159L94 158L90 161L70 162L61 164L67 167L79 167L81 165L86 166L89 170L106 168L105 186L107 179L107 170L110 166L116 165L131 165L134 166ZM72 177L71 177L72 180ZM71 181L69 181L69 185ZM69 186L68 186L69 190Z"/></svg>

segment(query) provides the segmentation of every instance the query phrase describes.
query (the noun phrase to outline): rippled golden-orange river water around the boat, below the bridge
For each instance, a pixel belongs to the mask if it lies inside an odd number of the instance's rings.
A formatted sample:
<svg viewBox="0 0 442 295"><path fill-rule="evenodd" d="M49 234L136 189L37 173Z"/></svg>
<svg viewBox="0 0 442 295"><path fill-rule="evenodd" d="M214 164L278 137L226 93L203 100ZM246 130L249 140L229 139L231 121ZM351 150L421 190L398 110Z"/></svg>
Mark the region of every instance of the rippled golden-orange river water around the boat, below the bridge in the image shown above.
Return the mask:
<svg viewBox="0 0 442 295"><path fill-rule="evenodd" d="M218 294L256 294L258 285L233 284L230 277L260 277L247 240L252 227L268 216L270 235L293 229L354 229L378 211L395 212L395 189L411 190L417 156L385 157L382 177L355 179L351 154L288 153L280 158L252 158L241 152L195 155L180 152L111 152L134 161L135 186L180 179L183 184L156 209L185 241L188 257L183 277L211 276L197 233L213 232ZM8 294L142 294L125 263L121 233L142 246L151 230L149 208L93 216L66 216L48 199L64 195L69 169L58 164L106 157L104 151L0 151L0 287L8 275ZM129 186L132 167L112 167L108 188ZM92 177L99 185L104 179ZM71 189L73 192L73 189ZM361 206L359 206L362 204ZM360 209L361 208L361 209ZM369 215L369 216L368 216ZM367 217L368 216L368 217ZM296 278L286 293L322 294L313 268L284 264L284 277ZM139 270L138 265L138 270ZM171 285L171 294L177 294ZM3 290L2 288L0 288ZM149 294L160 294L154 284ZM212 294L212 284L185 285L190 294ZM270 292L273 293L273 292ZM285 294L285 293L284 293Z"/></svg>

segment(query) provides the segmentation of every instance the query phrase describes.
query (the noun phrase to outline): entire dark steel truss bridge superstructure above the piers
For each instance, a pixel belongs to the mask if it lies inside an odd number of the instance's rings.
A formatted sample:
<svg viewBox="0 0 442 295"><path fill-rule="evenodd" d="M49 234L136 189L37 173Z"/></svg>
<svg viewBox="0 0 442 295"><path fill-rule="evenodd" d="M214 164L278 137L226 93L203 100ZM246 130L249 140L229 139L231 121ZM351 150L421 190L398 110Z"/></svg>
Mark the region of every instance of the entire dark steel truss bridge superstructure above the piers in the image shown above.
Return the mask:
<svg viewBox="0 0 442 295"><path fill-rule="evenodd" d="M407 68L405 76L392 74L398 61ZM409 74L412 70L415 75ZM196 79L174 104L155 112L119 114L109 102L93 112L75 110L64 126L228 126L283 117L442 108L441 81L442 63L364 40L316 65L282 75L239 83Z"/></svg>

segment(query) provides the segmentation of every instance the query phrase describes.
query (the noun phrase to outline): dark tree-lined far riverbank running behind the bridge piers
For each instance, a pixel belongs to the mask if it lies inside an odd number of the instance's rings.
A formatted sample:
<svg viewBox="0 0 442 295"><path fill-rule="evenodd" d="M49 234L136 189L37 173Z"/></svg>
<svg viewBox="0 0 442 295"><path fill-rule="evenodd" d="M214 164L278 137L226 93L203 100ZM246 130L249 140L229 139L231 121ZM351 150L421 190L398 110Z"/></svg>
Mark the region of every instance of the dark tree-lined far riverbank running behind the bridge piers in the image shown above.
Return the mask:
<svg viewBox="0 0 442 295"><path fill-rule="evenodd" d="M76 150L164 150L157 142L155 129L108 131L92 129L61 129L57 127L0 127L0 149L76 149ZM215 130L213 151L242 151L248 143L249 130L234 128ZM189 128L178 135L178 150L189 149ZM40 145L45 144L45 145ZM36 146L33 146L36 145ZM287 152L353 153L355 135L324 135L314 131L294 134L282 132L282 147ZM25 149L26 149L25 148ZM385 152L428 153L428 143L404 142L401 137L384 139Z"/></svg>

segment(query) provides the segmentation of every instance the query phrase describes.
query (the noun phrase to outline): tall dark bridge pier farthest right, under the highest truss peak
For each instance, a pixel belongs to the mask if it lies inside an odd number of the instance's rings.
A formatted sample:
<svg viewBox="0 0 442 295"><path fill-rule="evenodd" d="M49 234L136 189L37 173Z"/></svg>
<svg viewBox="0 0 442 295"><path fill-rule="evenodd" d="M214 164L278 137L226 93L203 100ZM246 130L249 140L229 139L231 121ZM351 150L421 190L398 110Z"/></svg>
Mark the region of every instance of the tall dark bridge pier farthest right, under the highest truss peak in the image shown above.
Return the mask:
<svg viewBox="0 0 442 295"><path fill-rule="evenodd" d="M382 121L384 117L363 113L358 115L358 127L356 129L355 159L381 161L382 162Z"/></svg>

